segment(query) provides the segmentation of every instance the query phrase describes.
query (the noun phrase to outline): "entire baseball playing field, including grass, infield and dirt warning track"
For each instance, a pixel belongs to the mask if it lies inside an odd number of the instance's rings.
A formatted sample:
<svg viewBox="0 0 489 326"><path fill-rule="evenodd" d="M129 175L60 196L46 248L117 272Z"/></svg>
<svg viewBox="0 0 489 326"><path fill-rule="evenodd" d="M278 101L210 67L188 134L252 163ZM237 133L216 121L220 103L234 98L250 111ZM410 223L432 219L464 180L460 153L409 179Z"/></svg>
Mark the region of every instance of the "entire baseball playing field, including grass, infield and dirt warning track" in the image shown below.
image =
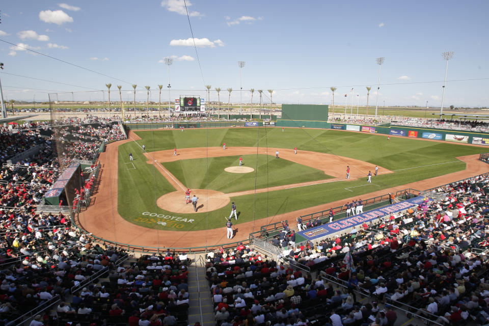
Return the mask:
<svg viewBox="0 0 489 326"><path fill-rule="evenodd" d="M231 201L238 207L233 240L239 240L260 225L292 222L348 200L425 189L487 171L477 160L485 149L476 146L395 136L387 143L385 135L351 131L266 129L258 147L254 127L131 131L127 140L107 145L100 154L105 170L100 187L105 190L80 213L79 222L103 238L134 245L218 244L227 240L222 219ZM146 152L137 150L143 143ZM280 159L275 159L276 150ZM135 170L125 167L129 152ZM226 172L241 156L255 171ZM367 183L375 166L378 176ZM370 184L375 187L364 186ZM187 188L199 197L197 212L185 204ZM97 219L100 214L108 218Z"/></svg>

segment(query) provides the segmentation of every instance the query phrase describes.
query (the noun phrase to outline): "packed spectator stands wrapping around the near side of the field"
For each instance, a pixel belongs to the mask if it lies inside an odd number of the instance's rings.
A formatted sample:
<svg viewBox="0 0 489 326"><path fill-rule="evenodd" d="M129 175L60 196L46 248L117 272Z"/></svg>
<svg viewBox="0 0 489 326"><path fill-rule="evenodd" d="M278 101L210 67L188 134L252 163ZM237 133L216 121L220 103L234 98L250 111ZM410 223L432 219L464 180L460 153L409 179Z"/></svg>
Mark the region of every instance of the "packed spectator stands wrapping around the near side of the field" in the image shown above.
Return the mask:
<svg viewBox="0 0 489 326"><path fill-rule="evenodd" d="M10 161L0 172L3 324L183 326L204 323L205 315L205 323L221 326L398 326L404 311L408 323L489 322L487 176L440 188L440 201L354 235L306 243L286 261L239 245L209 253L199 267L195 256L170 249L134 255L105 246L73 225L69 211L38 211L60 166L84 159L95 167L99 147L119 140L107 146L117 148L125 138L108 119L57 125L0 130L2 162ZM474 157L463 159L468 169L448 175L450 182L487 170ZM80 194L97 186L95 170L84 171ZM433 178L417 188L444 183ZM74 210L87 200L81 196ZM206 283L209 291L198 293Z"/></svg>

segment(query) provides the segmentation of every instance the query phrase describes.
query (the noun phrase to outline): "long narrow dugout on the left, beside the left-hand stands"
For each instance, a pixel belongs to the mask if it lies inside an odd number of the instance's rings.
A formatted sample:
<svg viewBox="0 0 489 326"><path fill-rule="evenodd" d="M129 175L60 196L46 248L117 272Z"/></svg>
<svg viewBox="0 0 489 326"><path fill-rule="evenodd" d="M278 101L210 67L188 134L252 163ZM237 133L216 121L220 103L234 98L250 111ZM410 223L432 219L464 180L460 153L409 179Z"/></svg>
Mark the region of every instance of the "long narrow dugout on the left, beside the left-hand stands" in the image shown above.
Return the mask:
<svg viewBox="0 0 489 326"><path fill-rule="evenodd" d="M44 194L44 204L58 206L63 200L62 206L71 206L75 198L75 189L82 188L83 182L81 165L70 164L52 184L51 189Z"/></svg>

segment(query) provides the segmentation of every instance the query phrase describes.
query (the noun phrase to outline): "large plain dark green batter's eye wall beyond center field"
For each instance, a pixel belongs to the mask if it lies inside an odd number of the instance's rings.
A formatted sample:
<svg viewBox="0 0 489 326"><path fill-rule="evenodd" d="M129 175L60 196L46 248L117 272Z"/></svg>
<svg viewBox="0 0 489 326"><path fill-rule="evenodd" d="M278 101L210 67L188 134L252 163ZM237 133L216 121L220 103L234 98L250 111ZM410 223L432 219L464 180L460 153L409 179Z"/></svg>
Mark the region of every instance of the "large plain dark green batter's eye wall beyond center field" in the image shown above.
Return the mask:
<svg viewBox="0 0 489 326"><path fill-rule="evenodd" d="M282 104L279 127L329 128L328 105Z"/></svg>

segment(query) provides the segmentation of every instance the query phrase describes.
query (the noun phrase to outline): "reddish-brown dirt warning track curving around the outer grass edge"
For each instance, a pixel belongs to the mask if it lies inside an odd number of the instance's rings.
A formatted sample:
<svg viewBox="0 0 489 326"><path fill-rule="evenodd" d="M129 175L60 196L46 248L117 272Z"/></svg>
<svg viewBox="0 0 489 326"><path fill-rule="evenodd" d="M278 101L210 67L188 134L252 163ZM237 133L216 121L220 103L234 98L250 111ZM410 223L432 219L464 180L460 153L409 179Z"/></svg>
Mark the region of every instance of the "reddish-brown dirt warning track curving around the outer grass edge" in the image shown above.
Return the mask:
<svg viewBox="0 0 489 326"><path fill-rule="evenodd" d="M133 137L134 134L131 132L129 135L130 137ZM230 242L230 240L228 240L226 237L226 228L224 226L218 229L202 231L162 231L132 224L124 220L122 216L119 215L117 211L118 147L119 145L130 141L132 140L129 139L108 144L105 148L105 152L100 154L99 159L102 163L102 171L100 173L101 177L99 189L102 191L99 191L94 195L93 205L79 214L77 222L88 232L91 232L101 238L120 243L132 244L135 246L185 248L213 246L214 244ZM256 148L254 148L254 150L256 153ZM205 148L203 151L205 151ZM270 151L270 149L268 151ZM240 152L236 155L241 154L243 153ZM273 151L272 154L275 155L275 151ZM230 154L226 153L226 155ZM280 155L282 156L282 153ZM294 155L293 151L292 155ZM299 155L300 154L297 154L297 156ZM405 188L423 190L488 172L489 166L484 162L479 161L478 157L478 154L458 157L458 159L465 161L467 164L464 171L399 185L389 189L383 189L382 191L363 195L362 197L370 198L385 195L387 193L396 192ZM300 162L300 164L303 164L303 162ZM345 164L343 163L342 166L344 165ZM330 173L331 172L328 174ZM344 176L342 177L344 178ZM283 220L288 220L290 225L294 225L295 218L299 215L329 209L330 207L337 207L343 205L347 201L351 201L352 199L358 199L357 197L345 198L333 203L309 207L281 215L270 216L255 222L240 223L236 225L237 231L235 230L236 235L233 237L232 241L247 239L249 233L259 230L261 225ZM182 200L183 197L180 198L180 200Z"/></svg>

